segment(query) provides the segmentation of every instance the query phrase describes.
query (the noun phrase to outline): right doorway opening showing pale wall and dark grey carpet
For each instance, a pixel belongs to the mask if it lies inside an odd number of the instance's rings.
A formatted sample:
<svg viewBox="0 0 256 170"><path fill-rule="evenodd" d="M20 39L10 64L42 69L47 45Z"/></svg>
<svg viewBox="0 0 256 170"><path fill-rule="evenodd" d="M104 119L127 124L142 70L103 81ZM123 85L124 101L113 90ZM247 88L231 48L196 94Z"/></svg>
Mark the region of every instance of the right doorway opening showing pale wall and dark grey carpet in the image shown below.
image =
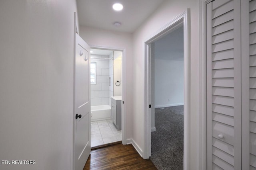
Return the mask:
<svg viewBox="0 0 256 170"><path fill-rule="evenodd" d="M151 44L151 157L158 169L183 169L183 25Z"/></svg>

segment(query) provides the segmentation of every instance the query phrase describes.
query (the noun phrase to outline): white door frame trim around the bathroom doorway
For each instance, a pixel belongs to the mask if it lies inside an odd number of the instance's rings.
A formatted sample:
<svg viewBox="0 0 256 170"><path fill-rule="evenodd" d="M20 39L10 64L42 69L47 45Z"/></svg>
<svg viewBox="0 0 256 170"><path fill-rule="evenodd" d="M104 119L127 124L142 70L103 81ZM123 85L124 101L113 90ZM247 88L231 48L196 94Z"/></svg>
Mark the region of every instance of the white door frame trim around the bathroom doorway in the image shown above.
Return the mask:
<svg viewBox="0 0 256 170"><path fill-rule="evenodd" d="M111 51L122 51L122 144L126 145L126 49L125 48L116 48L116 47L107 47L101 45L90 45L93 49L102 49L102 50L111 50Z"/></svg>

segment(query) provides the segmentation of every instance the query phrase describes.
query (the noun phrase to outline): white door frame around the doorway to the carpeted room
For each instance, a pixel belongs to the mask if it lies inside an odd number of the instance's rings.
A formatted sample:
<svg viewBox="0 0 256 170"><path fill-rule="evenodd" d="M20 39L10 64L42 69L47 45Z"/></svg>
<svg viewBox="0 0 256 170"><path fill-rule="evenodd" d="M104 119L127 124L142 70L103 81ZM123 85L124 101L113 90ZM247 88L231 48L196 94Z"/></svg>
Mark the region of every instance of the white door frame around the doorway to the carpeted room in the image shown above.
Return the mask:
<svg viewBox="0 0 256 170"><path fill-rule="evenodd" d="M189 163L189 127L190 117L190 9L171 20L160 28L156 33L144 41L145 72L144 72L144 153L143 158L151 155L151 111L148 107L151 104L151 68L150 68L150 44L164 37L168 33L183 24L184 26L184 170L188 169Z"/></svg>

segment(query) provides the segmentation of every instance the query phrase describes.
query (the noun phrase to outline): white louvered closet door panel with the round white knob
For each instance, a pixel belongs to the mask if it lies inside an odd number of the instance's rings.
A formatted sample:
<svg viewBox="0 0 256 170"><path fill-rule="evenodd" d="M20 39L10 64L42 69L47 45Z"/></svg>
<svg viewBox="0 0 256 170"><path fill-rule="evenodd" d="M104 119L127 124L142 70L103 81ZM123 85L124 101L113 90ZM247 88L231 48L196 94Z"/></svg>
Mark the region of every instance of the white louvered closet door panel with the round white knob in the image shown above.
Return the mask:
<svg viewBox="0 0 256 170"><path fill-rule="evenodd" d="M241 170L240 3L207 4L208 170Z"/></svg>

